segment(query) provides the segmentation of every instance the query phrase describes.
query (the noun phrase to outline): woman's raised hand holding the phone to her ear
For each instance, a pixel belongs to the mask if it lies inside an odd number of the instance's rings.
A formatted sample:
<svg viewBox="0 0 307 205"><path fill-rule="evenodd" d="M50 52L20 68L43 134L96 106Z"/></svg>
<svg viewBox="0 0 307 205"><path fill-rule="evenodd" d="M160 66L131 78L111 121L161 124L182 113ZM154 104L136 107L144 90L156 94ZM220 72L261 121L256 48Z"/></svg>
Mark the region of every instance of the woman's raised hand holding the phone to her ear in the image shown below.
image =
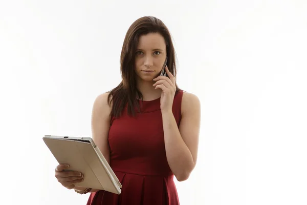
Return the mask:
<svg viewBox="0 0 307 205"><path fill-rule="evenodd" d="M171 72L168 70L167 66L165 66L165 71L168 77L166 76L158 76L154 81L156 81L153 86L155 86L155 89L161 89L161 99L160 99L160 108L161 111L172 111L172 104L173 99L176 93L176 84L175 84L175 78L171 74Z"/></svg>

